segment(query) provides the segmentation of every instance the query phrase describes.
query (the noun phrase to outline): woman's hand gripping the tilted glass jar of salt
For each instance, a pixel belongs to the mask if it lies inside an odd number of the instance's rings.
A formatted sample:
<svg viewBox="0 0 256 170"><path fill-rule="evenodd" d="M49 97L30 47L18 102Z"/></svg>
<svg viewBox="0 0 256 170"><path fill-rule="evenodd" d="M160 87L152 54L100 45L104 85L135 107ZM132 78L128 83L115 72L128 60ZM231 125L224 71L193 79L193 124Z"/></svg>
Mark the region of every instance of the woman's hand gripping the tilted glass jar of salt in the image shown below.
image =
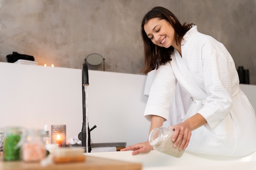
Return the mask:
<svg viewBox="0 0 256 170"><path fill-rule="evenodd" d="M186 149L189 145L191 137L191 129L186 122L170 126L169 129L174 130L172 141L174 142L173 146L176 148L179 147L179 150ZM182 140L180 146L178 145Z"/></svg>

